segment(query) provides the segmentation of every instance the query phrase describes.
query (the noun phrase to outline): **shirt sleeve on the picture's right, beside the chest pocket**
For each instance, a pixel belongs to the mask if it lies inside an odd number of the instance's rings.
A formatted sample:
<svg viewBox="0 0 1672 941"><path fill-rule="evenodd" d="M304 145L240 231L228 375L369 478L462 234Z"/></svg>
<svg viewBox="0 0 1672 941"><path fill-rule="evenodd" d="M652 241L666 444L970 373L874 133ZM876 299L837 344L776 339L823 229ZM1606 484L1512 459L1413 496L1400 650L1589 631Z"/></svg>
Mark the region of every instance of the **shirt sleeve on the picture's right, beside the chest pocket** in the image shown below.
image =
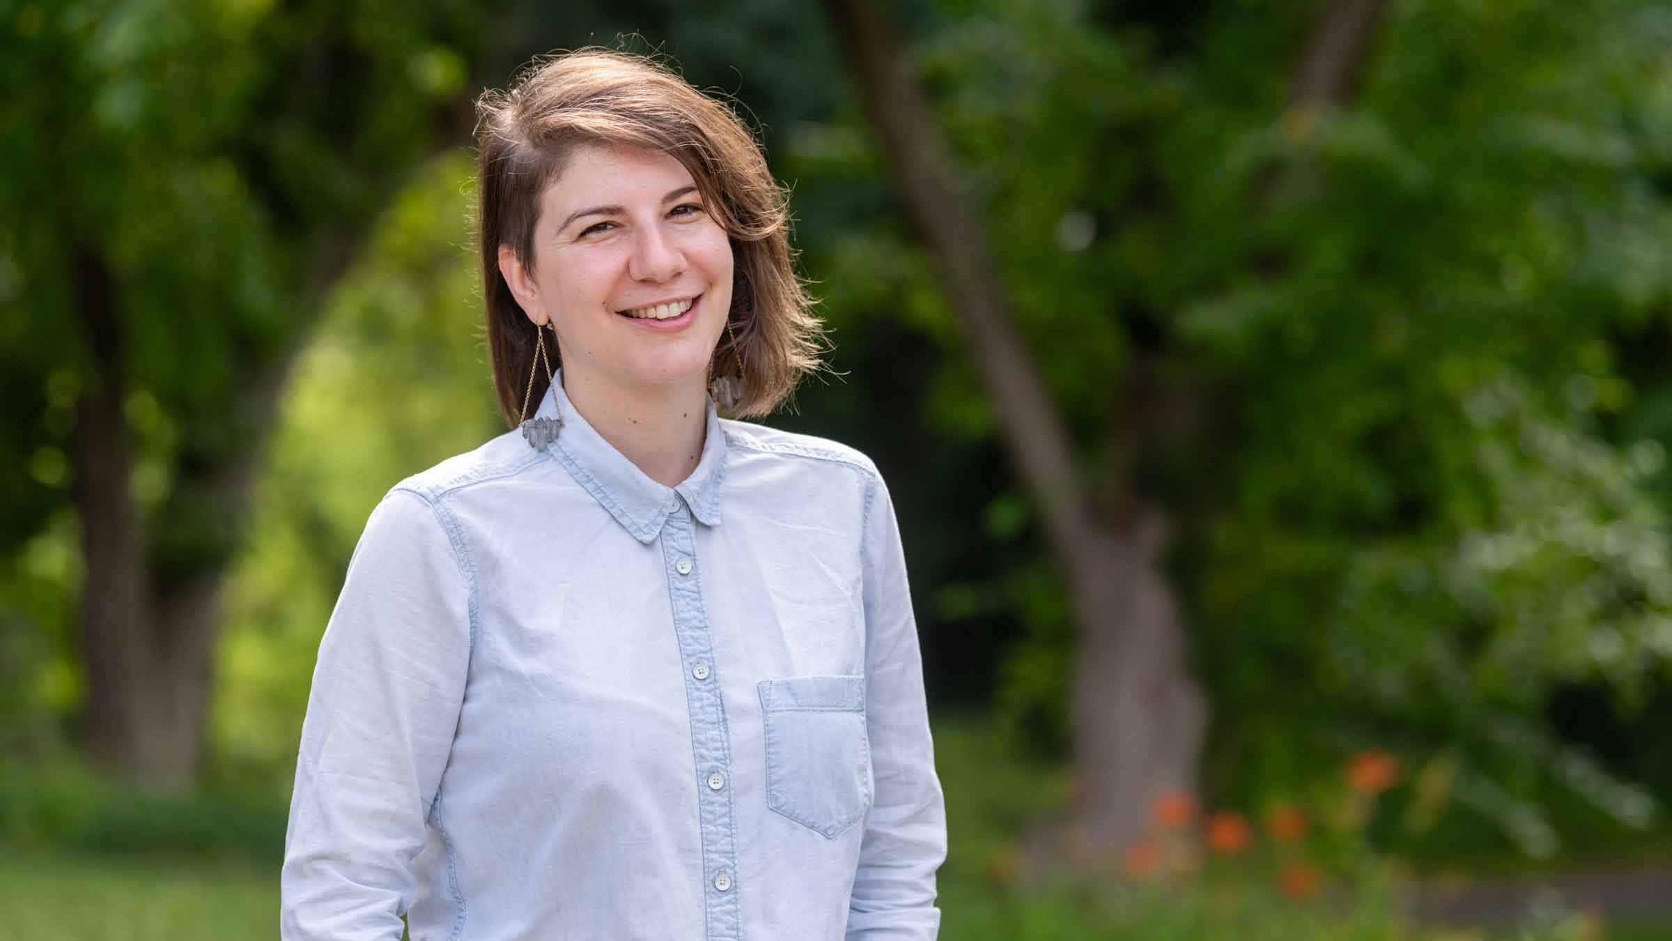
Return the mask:
<svg viewBox="0 0 1672 941"><path fill-rule="evenodd" d="M848 941L930 941L946 805L935 775L923 656L888 487L873 479L864 526L866 732L876 795L848 902Z"/></svg>

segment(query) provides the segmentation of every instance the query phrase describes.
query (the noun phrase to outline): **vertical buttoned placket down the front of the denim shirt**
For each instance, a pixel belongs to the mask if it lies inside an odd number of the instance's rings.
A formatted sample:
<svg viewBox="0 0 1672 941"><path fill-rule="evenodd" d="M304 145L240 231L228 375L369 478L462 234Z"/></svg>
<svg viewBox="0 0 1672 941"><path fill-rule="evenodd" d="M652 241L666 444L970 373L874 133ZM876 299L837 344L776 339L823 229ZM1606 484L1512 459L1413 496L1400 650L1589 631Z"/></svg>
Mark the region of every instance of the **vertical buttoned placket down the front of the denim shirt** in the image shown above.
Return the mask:
<svg viewBox="0 0 1672 941"><path fill-rule="evenodd" d="M677 504L677 494L669 506ZM684 509L684 507L679 507ZM702 604L702 579L696 578L696 527L691 514L669 512L662 526L662 559L674 608L674 636L679 655L689 663L686 671L686 708L691 717L691 750L696 764L697 819L702 836L702 869L712 872L706 889L707 941L741 941L742 914L732 891L737 871L737 824L732 812L731 733L721 685L707 681L714 675L714 648L707 609Z"/></svg>

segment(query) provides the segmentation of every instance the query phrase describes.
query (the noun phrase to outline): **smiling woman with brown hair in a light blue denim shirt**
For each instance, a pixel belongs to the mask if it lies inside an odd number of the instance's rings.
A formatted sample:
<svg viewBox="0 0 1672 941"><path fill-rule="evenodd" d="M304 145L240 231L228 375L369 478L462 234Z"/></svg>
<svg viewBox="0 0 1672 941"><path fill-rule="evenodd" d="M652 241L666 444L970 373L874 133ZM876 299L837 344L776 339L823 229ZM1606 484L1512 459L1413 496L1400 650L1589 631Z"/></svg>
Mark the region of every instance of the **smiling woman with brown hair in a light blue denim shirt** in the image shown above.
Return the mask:
<svg viewBox="0 0 1672 941"><path fill-rule="evenodd" d="M602 50L478 109L520 430L366 522L283 936L935 938L945 807L888 489L849 447L716 414L771 412L818 358L754 137Z"/></svg>

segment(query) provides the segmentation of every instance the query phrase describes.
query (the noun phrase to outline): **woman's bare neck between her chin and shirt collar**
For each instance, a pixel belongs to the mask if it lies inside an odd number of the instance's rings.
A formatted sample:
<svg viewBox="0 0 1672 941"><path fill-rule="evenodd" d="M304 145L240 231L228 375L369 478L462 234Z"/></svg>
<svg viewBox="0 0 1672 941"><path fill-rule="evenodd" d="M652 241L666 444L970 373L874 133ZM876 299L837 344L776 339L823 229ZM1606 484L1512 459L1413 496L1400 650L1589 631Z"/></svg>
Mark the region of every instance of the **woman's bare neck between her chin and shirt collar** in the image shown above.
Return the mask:
<svg viewBox="0 0 1672 941"><path fill-rule="evenodd" d="M563 393L592 430L657 484L677 487L697 469L707 439L701 377L697 383L625 388L565 368Z"/></svg>

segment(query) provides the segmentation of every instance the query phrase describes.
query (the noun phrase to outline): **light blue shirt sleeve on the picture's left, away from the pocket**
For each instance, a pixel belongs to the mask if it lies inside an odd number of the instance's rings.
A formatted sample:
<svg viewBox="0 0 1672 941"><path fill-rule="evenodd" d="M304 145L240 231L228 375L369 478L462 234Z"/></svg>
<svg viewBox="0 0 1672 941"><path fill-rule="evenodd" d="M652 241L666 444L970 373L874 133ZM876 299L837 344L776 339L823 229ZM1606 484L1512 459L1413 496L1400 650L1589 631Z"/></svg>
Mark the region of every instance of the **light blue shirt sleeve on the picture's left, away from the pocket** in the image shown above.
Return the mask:
<svg viewBox="0 0 1672 941"><path fill-rule="evenodd" d="M431 504L371 512L319 643L281 872L286 941L398 941L472 650L466 556Z"/></svg>

